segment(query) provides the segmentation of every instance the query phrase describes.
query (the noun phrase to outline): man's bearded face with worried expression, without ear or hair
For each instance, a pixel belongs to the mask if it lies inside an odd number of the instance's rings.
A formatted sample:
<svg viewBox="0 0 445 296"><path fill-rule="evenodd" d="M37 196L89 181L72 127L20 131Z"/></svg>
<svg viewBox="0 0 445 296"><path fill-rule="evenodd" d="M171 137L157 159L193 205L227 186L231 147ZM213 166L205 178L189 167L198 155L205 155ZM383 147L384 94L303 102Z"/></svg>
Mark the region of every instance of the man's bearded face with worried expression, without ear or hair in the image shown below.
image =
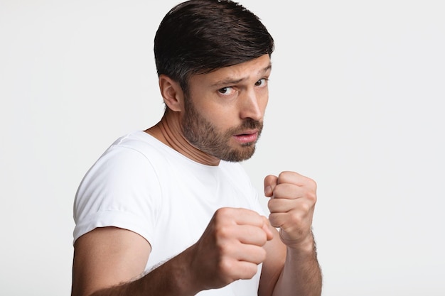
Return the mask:
<svg viewBox="0 0 445 296"><path fill-rule="evenodd" d="M270 71L263 55L191 77L182 119L187 141L220 160L250 158L262 131Z"/></svg>

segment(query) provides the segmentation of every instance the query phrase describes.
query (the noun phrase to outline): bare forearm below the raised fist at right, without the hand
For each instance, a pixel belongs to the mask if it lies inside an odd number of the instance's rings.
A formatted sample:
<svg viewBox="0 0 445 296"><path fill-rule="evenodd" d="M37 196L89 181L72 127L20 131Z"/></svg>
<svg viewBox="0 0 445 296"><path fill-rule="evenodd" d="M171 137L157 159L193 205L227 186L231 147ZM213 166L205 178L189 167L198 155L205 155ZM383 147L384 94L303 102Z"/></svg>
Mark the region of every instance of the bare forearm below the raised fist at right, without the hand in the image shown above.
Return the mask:
<svg viewBox="0 0 445 296"><path fill-rule="evenodd" d="M304 249L287 248L286 263L273 295L319 296L321 281L316 246L312 239Z"/></svg>

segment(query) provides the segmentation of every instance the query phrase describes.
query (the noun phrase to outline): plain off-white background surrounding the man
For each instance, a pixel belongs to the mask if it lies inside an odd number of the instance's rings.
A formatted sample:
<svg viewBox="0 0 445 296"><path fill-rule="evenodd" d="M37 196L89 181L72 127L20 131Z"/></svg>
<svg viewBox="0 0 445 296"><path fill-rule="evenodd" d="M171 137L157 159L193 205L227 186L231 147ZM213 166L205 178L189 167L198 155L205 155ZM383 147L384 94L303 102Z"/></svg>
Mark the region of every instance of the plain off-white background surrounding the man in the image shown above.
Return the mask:
<svg viewBox="0 0 445 296"><path fill-rule="evenodd" d="M277 45L245 167L259 190L318 182L323 295L445 295L440 2L241 1ZM153 38L177 3L0 0L0 295L70 294L77 185L159 120Z"/></svg>

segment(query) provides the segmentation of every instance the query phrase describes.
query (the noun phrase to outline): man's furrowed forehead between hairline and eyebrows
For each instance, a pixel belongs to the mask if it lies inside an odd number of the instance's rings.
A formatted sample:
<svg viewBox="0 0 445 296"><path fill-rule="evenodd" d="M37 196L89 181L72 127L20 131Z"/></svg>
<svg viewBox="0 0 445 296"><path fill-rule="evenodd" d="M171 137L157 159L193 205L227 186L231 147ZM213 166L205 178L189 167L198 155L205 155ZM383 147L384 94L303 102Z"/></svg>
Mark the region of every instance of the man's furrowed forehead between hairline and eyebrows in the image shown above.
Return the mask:
<svg viewBox="0 0 445 296"><path fill-rule="evenodd" d="M215 87L250 80L256 82L263 75L269 74L271 69L272 64L269 55L262 55L237 65L222 67L205 74L193 75L190 82L191 84L195 82L205 83Z"/></svg>

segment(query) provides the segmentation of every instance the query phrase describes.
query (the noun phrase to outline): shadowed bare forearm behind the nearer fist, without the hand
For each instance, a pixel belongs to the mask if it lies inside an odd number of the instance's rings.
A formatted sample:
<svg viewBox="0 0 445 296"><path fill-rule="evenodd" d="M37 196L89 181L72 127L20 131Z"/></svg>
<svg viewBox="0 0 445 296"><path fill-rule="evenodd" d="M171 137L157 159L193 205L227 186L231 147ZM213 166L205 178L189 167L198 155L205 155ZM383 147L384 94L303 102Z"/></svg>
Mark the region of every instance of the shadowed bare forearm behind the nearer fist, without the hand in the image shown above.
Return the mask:
<svg viewBox="0 0 445 296"><path fill-rule="evenodd" d="M189 253L187 249L137 280L99 290L91 296L195 295L200 289L192 285L195 280L188 270Z"/></svg>

